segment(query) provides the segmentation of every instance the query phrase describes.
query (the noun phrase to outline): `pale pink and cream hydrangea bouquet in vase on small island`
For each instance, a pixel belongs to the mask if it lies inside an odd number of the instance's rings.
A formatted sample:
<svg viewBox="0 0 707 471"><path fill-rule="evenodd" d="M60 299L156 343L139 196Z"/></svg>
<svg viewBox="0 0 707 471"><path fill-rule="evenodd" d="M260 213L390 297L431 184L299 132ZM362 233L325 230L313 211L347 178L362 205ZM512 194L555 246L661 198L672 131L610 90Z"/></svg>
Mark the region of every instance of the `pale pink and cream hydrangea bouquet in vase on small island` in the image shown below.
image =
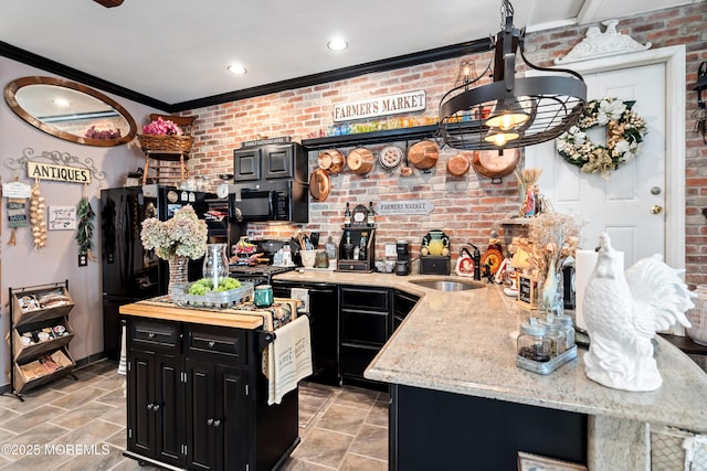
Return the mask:
<svg viewBox="0 0 707 471"><path fill-rule="evenodd" d="M193 207L183 206L167 221L150 217L143 222L140 238L148 250L163 260L173 257L197 259L207 251L209 229L207 223L197 217Z"/></svg>

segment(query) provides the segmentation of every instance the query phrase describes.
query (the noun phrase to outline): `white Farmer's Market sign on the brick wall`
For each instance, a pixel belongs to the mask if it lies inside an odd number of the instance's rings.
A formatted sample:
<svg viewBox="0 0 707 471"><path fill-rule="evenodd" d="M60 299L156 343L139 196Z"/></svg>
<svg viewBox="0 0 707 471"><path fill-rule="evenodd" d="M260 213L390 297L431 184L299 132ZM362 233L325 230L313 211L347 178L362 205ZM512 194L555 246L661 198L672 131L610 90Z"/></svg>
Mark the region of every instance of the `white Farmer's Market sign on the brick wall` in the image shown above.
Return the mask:
<svg viewBox="0 0 707 471"><path fill-rule="evenodd" d="M334 121L351 121L355 119L397 115L400 113L420 111L423 110L425 106L426 95L424 90L379 96L360 101L335 105Z"/></svg>

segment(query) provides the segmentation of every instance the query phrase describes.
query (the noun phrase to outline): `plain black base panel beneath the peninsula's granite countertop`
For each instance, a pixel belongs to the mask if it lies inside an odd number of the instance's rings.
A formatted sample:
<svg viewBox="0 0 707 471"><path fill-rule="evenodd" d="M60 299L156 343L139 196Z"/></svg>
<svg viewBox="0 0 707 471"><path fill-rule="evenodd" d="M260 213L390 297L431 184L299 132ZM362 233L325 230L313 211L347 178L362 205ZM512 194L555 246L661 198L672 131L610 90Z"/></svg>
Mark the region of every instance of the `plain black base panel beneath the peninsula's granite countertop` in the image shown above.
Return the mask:
<svg viewBox="0 0 707 471"><path fill-rule="evenodd" d="M515 470L518 451L587 462L587 416L391 386L390 470Z"/></svg>

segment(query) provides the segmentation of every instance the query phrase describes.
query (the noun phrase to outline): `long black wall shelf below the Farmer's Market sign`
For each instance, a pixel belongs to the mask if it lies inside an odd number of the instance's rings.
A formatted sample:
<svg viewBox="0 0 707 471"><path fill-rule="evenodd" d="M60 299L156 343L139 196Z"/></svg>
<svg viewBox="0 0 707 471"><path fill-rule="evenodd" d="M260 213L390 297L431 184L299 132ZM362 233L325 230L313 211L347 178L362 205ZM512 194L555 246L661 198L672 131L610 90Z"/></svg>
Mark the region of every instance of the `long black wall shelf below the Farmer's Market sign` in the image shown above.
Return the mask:
<svg viewBox="0 0 707 471"><path fill-rule="evenodd" d="M370 146L397 141L419 141L439 136L437 125L418 126L413 128L387 129L384 131L357 132L326 138L303 139L302 144L308 150L340 147Z"/></svg>

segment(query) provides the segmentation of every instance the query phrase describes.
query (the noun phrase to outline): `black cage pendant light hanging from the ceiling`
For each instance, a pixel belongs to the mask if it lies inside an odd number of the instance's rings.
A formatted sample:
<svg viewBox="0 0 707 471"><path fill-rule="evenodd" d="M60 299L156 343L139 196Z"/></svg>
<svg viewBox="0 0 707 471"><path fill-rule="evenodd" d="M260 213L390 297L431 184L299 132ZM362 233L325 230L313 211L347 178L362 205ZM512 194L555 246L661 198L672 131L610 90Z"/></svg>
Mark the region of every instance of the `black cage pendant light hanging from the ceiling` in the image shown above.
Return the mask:
<svg viewBox="0 0 707 471"><path fill-rule="evenodd" d="M440 103L440 132L452 148L489 150L545 142L569 129L584 109L587 85L581 75L540 67L525 57L525 30L514 26L508 0L502 3L502 20L493 82L474 86L481 77L466 81ZM516 77L517 50L528 67L552 75Z"/></svg>

